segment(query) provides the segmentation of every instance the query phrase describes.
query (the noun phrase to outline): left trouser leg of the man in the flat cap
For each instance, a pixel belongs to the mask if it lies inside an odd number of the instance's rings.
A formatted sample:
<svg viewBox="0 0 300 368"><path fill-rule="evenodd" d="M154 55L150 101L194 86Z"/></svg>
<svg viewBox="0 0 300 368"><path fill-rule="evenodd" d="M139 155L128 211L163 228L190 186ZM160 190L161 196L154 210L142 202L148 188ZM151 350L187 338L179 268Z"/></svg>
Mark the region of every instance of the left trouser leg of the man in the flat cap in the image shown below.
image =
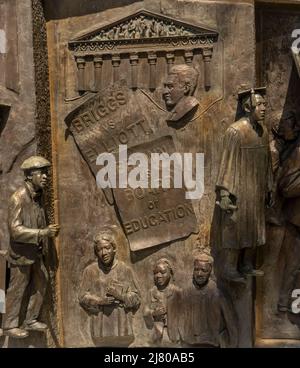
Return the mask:
<svg viewBox="0 0 300 368"><path fill-rule="evenodd" d="M10 281L6 294L6 313L3 315L3 329L19 326L19 315L24 292L30 280L31 266L10 268Z"/></svg>

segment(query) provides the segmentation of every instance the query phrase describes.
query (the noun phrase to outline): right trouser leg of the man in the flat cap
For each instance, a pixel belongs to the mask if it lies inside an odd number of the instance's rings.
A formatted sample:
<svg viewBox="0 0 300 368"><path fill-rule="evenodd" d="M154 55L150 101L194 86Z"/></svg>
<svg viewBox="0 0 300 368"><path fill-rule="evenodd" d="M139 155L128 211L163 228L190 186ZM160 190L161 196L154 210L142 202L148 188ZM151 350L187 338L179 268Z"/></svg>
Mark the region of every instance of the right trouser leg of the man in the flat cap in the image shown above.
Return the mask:
<svg viewBox="0 0 300 368"><path fill-rule="evenodd" d="M32 265L32 285L25 323L30 324L39 317L48 283L48 273L42 259Z"/></svg>

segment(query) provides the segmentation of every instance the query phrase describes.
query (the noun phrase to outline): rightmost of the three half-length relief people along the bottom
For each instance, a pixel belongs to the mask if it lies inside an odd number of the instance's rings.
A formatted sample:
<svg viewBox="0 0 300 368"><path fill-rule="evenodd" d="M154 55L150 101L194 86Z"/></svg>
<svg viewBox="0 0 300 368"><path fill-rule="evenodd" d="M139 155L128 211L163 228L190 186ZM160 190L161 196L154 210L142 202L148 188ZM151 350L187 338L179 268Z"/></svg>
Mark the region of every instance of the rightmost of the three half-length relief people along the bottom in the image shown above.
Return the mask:
<svg viewBox="0 0 300 368"><path fill-rule="evenodd" d="M183 291L180 335L191 347L236 347L232 308L211 278L213 258L202 251L194 258L193 282Z"/></svg>

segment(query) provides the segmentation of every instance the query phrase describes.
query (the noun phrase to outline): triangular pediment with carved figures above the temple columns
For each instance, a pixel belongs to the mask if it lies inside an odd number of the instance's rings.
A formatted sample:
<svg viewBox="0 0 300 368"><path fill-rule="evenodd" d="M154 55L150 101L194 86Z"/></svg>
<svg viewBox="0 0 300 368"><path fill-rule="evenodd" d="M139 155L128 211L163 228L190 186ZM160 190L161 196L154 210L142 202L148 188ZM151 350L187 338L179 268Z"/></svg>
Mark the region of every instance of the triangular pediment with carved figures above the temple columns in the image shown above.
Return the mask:
<svg viewBox="0 0 300 368"><path fill-rule="evenodd" d="M171 46L209 45L218 33L184 21L140 10L109 25L98 28L69 42L73 51L127 49L132 45L163 44Z"/></svg>

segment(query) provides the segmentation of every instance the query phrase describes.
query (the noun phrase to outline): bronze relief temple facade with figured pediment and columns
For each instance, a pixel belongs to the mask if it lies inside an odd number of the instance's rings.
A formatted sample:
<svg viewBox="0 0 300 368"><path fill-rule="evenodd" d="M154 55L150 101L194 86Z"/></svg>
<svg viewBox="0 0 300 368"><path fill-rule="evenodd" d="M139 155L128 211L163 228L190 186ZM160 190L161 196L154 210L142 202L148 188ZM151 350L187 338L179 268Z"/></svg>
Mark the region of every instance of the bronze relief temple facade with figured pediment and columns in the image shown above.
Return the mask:
<svg viewBox="0 0 300 368"><path fill-rule="evenodd" d="M218 32L162 14L140 10L69 41L77 65L77 91L99 91L121 77L132 89L154 91L173 64L197 64L211 86L210 62ZM167 67L165 68L165 64ZM109 75L110 80L105 79Z"/></svg>

